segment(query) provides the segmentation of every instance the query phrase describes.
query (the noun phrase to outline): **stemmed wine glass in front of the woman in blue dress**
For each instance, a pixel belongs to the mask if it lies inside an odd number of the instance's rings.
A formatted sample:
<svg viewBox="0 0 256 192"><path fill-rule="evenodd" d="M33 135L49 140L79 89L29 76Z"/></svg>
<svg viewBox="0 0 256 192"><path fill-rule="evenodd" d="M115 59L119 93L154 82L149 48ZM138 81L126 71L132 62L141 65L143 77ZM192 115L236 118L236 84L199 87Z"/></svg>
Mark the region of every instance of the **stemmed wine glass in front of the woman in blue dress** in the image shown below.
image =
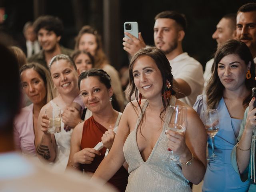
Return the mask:
<svg viewBox="0 0 256 192"><path fill-rule="evenodd" d="M218 156L214 153L214 136L219 130L219 116L217 109L208 109L203 111L202 121L206 128L206 133L212 141L212 155L207 160L218 159Z"/></svg>

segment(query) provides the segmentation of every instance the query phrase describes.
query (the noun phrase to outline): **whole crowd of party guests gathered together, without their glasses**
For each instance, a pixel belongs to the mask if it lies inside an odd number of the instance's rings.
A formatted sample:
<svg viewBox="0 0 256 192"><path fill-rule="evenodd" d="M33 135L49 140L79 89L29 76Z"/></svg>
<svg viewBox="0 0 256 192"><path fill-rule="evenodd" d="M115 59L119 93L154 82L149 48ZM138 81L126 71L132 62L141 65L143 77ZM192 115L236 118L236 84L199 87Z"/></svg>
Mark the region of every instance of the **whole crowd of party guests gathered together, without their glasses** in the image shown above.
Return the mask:
<svg viewBox="0 0 256 192"><path fill-rule="evenodd" d="M202 181L203 192L256 191L256 3L219 21L212 34L217 49L204 72L183 52L185 15L163 11L154 19L154 47L141 33L125 32L123 48L131 56L125 91L91 26L82 27L71 50L59 44L62 21L40 16L24 26L26 51L0 45L10 63L5 71L12 71L0 81L6 90L0 95L0 162L7 164L0 165L0 191L28 178L55 191L190 192ZM185 132L166 128L175 105L186 107ZM61 110L55 133L48 132L49 109ZM202 122L211 109L219 115L214 142ZM206 161L213 148L218 158ZM164 161L171 151L179 163ZM85 176L69 180L74 172ZM16 189L35 189L26 185Z"/></svg>

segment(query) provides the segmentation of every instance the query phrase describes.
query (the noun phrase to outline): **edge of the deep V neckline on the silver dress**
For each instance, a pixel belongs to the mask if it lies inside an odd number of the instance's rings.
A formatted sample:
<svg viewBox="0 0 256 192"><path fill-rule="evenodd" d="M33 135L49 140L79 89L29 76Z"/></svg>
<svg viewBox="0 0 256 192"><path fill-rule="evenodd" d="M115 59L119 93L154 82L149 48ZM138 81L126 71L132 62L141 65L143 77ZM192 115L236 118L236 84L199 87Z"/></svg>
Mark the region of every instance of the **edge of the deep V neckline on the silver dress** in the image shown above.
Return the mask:
<svg viewBox="0 0 256 192"><path fill-rule="evenodd" d="M174 99L172 99L172 98L174 98ZM175 97L175 96L172 96L172 98L171 98L170 106L171 106L171 105L175 105L175 103L176 103L176 97ZM146 105L146 106L145 106L145 105ZM146 111L147 106L148 106L148 100L146 100L146 102L145 102L144 105L143 105L143 108L142 108L142 111L144 110L143 112ZM163 126L162 126L162 131L161 131L161 133L160 133L158 139L156 140L156 143L154 144L154 147L153 147L152 151L150 152L150 155L148 156L148 159L147 159L146 161L144 161L144 159L142 158L142 155L141 155L141 153L140 153L139 146L138 146L138 141L137 141L138 125L139 125L140 120L141 120L140 117L141 117L141 114L140 114L139 119L138 119L139 122L136 122L136 129L133 130L133 131L135 131L135 134L134 134L134 135L135 135L135 141L136 141L135 145L136 145L136 151L138 152L138 154L139 154L139 156L140 156L140 160L141 160L143 163L147 163L148 161L150 161L150 160L152 159L152 156L153 156L153 154L154 154L154 151L155 151L156 148L158 147L159 140L160 140L160 138L162 137L162 134L164 133L164 124L163 124ZM138 120L137 120L137 121L138 121ZM167 149L166 149L166 150L167 150Z"/></svg>

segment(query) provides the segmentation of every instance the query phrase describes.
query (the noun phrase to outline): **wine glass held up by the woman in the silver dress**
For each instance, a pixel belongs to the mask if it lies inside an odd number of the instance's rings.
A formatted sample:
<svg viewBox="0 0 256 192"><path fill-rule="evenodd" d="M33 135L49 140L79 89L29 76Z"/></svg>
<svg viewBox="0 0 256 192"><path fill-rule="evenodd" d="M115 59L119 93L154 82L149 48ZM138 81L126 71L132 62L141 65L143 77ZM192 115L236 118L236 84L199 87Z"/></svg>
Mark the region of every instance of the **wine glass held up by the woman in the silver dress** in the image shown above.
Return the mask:
<svg viewBox="0 0 256 192"><path fill-rule="evenodd" d="M164 122L165 130L172 130L178 133L183 133L186 131L188 126L187 123L187 108L185 106L168 106L166 109L166 118ZM173 152L170 152L170 155L167 159L163 160L164 162L173 162L176 164L180 163L179 157L174 156Z"/></svg>

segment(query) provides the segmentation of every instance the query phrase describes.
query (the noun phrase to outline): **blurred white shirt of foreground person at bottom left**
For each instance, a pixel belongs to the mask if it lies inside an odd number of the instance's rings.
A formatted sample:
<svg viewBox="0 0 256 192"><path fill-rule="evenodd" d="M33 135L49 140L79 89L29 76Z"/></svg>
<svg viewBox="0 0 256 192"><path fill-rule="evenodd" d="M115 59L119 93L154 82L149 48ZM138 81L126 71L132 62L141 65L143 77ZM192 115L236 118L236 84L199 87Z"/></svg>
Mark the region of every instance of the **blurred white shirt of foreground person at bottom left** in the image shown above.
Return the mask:
<svg viewBox="0 0 256 192"><path fill-rule="evenodd" d="M115 192L72 170L50 172L16 152L0 154L0 192Z"/></svg>

